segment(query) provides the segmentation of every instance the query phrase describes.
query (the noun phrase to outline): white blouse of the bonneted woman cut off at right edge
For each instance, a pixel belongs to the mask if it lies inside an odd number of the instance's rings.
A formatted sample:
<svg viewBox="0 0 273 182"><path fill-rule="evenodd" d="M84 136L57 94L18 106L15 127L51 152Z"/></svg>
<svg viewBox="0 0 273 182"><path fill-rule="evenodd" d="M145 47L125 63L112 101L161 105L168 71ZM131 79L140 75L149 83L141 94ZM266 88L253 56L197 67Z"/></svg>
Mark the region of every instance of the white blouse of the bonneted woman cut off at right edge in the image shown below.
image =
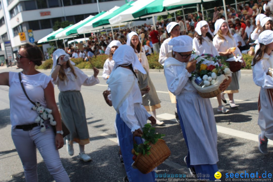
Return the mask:
<svg viewBox="0 0 273 182"><path fill-rule="evenodd" d="M273 54L265 53L263 58L252 67L253 81L262 88L273 88L273 78L266 75L268 68L272 67Z"/></svg>

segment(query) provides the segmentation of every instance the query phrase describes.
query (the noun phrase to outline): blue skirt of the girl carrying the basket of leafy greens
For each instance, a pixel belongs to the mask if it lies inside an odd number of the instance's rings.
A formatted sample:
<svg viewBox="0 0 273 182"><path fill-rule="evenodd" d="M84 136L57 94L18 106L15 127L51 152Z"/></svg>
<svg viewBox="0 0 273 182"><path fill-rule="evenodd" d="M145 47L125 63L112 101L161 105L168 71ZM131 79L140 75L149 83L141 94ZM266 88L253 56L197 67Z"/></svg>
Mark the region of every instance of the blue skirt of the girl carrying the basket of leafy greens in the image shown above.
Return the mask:
<svg viewBox="0 0 273 182"><path fill-rule="evenodd" d="M116 124L118 129L118 139L120 142L120 149L124 161L124 167L127 173L128 180L130 182L152 182L155 181L155 171L148 174L141 173L138 169L132 168L132 163L134 162L132 157L133 149L133 135L131 129L121 120L120 114L117 114ZM140 137L135 137L137 144L143 143Z"/></svg>

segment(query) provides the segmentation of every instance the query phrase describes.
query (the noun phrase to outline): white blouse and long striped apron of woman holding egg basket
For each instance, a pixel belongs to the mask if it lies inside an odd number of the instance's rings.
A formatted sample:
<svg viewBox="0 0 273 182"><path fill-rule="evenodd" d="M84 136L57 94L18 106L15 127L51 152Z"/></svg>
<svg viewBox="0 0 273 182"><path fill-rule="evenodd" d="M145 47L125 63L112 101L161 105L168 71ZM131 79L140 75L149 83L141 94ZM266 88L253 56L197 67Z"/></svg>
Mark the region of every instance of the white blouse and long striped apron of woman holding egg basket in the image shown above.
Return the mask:
<svg viewBox="0 0 273 182"><path fill-rule="evenodd" d="M169 91L176 95L185 127L191 165L216 164L217 131L209 99L200 97L192 85L186 63L168 58L164 74Z"/></svg>

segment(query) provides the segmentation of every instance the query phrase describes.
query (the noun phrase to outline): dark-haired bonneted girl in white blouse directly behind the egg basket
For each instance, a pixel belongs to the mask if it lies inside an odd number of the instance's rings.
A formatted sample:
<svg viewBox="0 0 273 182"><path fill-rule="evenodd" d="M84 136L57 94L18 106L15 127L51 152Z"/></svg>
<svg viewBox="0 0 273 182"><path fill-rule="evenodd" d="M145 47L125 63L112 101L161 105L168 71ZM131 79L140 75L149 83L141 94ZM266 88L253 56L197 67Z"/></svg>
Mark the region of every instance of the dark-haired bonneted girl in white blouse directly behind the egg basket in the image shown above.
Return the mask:
<svg viewBox="0 0 273 182"><path fill-rule="evenodd" d="M205 20L202 20L197 23L195 31L196 33L194 35L192 43L192 48L195 51L195 53L197 55L208 53L214 56L219 56L218 51L216 50L212 43L213 38L209 28L209 24ZM217 96L217 100L218 100L217 111L222 113L229 112L229 109L225 108L225 106L222 105L220 94Z"/></svg>

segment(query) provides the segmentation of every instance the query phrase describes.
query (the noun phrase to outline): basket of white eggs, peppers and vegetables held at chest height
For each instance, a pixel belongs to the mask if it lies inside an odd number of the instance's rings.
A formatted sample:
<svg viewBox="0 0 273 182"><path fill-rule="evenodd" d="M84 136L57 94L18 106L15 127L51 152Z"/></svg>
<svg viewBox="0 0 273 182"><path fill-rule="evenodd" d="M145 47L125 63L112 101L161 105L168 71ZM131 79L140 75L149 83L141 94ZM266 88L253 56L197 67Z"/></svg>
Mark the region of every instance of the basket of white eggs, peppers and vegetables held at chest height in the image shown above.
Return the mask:
<svg viewBox="0 0 273 182"><path fill-rule="evenodd" d="M197 89L198 94L203 98L212 98L221 93L220 84L231 76L231 71L226 62L221 62L220 56L202 54L206 56L196 64L196 70L192 72L192 85Z"/></svg>

